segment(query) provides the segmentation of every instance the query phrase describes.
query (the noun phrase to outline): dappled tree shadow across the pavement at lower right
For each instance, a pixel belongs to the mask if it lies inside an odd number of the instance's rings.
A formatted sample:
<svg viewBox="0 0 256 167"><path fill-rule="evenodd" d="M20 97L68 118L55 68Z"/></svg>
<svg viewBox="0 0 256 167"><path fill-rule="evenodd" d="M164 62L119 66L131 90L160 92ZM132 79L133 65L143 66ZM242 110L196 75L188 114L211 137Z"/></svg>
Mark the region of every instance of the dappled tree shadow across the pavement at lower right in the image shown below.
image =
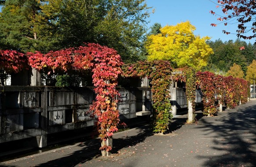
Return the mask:
<svg viewBox="0 0 256 167"><path fill-rule="evenodd" d="M256 103L248 102L236 109L227 109L218 116L201 119L198 128L205 136L213 134L212 149L219 156L198 156L208 159L204 166L256 166Z"/></svg>

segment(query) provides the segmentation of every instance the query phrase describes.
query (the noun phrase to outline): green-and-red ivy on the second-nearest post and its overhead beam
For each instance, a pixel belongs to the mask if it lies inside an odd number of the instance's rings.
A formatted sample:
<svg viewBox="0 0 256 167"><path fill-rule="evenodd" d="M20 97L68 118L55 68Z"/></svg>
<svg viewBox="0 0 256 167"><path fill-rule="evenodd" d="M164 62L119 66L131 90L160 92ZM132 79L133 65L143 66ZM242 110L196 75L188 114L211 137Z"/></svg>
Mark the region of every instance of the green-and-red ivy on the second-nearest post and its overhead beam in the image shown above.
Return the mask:
<svg viewBox="0 0 256 167"><path fill-rule="evenodd" d="M172 67L167 61L145 61L123 66L125 77L148 77L152 84L154 133L165 133L172 119L171 96L169 93L172 82Z"/></svg>

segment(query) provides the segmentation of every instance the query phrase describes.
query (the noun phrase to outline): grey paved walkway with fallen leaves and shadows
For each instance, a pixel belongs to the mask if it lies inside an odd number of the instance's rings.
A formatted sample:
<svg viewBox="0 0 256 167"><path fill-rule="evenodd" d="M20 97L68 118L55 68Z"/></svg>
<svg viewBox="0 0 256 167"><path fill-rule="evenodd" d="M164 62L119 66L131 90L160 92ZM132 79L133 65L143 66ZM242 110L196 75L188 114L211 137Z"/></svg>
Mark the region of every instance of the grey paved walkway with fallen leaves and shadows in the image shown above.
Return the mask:
<svg viewBox="0 0 256 167"><path fill-rule="evenodd" d="M201 113L197 114L200 117ZM113 156L100 157L90 140L0 163L1 167L256 167L256 100L215 117L185 123L175 118L170 134L149 126L114 134Z"/></svg>

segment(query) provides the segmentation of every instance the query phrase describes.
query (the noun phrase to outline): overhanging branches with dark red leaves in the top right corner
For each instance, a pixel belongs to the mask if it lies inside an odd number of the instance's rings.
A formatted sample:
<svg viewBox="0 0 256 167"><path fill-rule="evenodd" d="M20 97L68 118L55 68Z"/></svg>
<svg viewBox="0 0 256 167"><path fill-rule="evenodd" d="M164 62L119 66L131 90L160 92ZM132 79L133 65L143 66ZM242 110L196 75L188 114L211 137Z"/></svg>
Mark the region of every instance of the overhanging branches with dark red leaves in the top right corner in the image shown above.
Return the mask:
<svg viewBox="0 0 256 167"><path fill-rule="evenodd" d="M221 7L224 16L216 14L214 11L210 11L212 15L218 15L217 18L220 23L224 25L237 24L238 29L236 34L243 39L252 39L256 37L256 1L255 0L217 0L218 5ZM212 23L212 26L217 24ZM227 30L223 30L223 33L230 34Z"/></svg>

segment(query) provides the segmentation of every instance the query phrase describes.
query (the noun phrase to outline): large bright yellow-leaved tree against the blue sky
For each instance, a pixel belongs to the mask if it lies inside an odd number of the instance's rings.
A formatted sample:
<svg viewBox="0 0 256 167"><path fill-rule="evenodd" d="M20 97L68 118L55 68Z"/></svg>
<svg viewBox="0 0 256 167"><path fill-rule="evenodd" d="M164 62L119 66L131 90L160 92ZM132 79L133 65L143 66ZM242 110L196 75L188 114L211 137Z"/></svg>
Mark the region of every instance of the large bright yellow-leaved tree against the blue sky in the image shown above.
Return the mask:
<svg viewBox="0 0 256 167"><path fill-rule="evenodd" d="M175 26L166 25L160 29L161 33L148 36L148 60L168 60L175 68L190 66L200 70L207 65L208 57L213 51L206 44L210 37L195 36L195 29L187 21Z"/></svg>

